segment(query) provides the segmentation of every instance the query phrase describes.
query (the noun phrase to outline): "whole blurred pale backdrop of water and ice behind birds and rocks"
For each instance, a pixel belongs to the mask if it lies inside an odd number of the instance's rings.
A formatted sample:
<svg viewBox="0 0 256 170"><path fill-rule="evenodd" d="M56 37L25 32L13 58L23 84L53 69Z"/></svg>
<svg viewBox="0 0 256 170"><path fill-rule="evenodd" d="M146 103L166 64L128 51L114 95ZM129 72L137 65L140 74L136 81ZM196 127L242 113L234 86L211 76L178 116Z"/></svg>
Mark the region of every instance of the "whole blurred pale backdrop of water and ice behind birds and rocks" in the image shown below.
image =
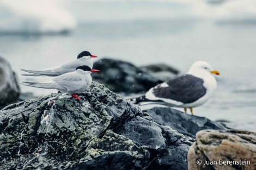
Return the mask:
<svg viewBox="0 0 256 170"><path fill-rule="evenodd" d="M0 1L0 55L19 81L31 80L21 68L46 70L85 50L136 66L164 63L181 73L204 60L221 75L214 97L195 115L254 131L255 37L255 0Z"/></svg>

